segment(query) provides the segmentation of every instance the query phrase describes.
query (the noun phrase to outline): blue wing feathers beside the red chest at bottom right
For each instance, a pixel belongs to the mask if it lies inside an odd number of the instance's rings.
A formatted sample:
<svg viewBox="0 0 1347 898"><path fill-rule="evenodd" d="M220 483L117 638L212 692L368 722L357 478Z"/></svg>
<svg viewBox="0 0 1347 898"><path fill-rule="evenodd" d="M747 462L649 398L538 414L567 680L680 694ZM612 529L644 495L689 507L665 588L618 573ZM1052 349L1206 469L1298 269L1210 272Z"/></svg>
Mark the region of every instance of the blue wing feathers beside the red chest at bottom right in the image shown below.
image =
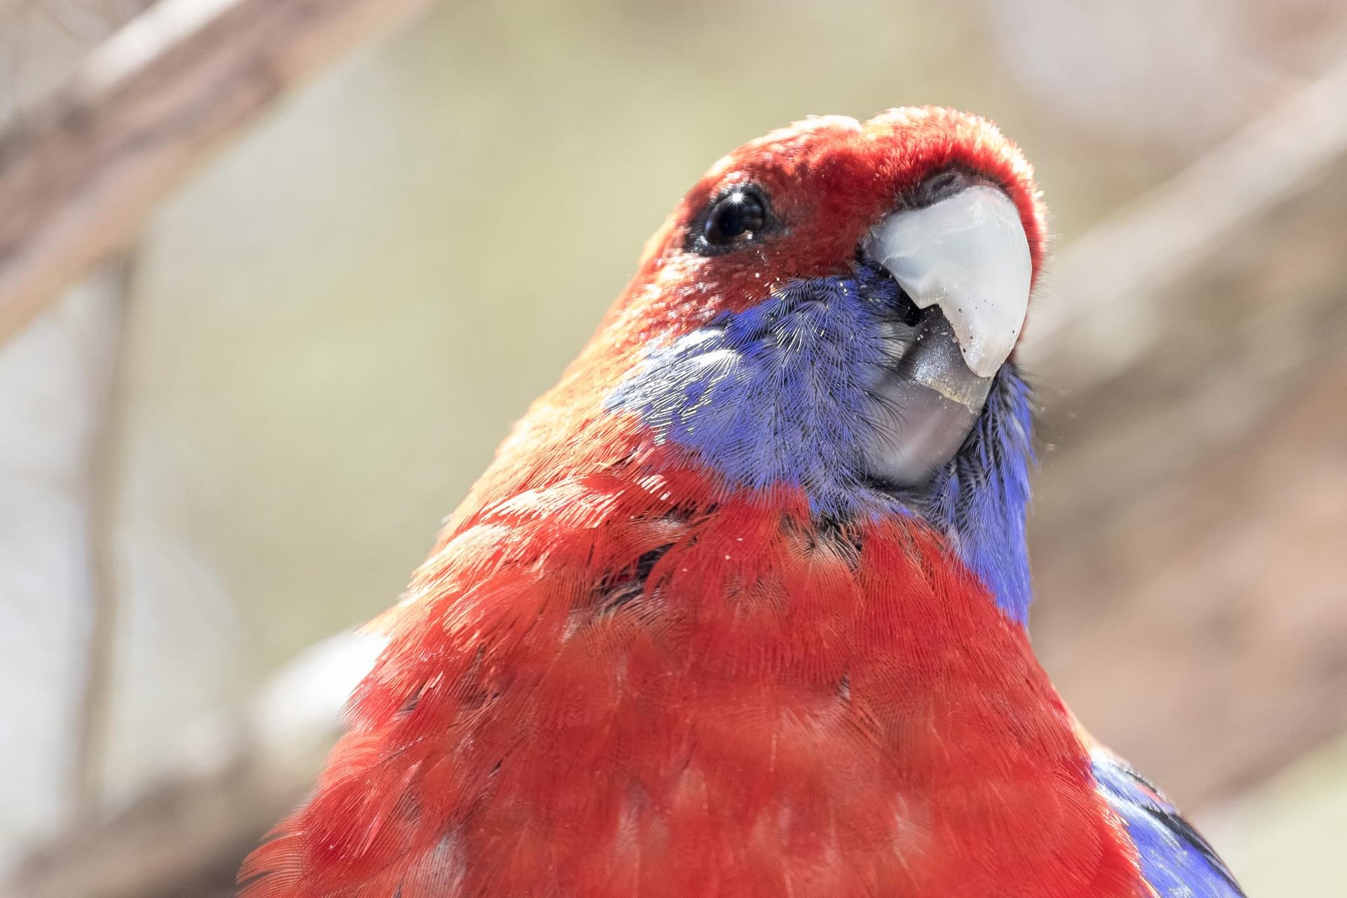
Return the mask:
<svg viewBox="0 0 1347 898"><path fill-rule="evenodd" d="M1091 753L1099 794L1126 824L1141 875L1160 898L1246 898L1230 868L1158 789L1105 749Z"/></svg>

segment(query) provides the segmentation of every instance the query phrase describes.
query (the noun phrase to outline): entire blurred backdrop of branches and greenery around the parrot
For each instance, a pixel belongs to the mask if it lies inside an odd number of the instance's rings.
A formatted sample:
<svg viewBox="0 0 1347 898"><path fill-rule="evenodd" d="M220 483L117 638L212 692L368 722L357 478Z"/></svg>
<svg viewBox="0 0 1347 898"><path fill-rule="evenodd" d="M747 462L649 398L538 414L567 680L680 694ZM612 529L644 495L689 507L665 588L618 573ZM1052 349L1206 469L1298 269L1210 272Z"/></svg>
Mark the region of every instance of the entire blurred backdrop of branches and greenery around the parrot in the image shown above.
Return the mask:
<svg viewBox="0 0 1347 898"><path fill-rule="evenodd" d="M1347 894L1336 0L0 0L0 894L230 894L674 202L907 104L1053 211L1044 664L1251 897Z"/></svg>

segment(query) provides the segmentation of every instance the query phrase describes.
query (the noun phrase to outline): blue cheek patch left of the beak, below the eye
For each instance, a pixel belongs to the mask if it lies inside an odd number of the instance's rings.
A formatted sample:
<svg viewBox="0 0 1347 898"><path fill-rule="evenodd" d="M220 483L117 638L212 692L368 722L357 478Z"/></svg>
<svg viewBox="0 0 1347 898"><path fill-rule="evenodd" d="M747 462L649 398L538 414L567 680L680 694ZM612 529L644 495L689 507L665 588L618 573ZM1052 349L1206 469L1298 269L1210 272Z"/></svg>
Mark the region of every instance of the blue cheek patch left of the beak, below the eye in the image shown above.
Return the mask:
<svg viewBox="0 0 1347 898"><path fill-rule="evenodd" d="M793 281L655 349L607 407L731 483L799 486L815 513L847 514L861 491L865 386L884 364L881 311L853 280Z"/></svg>

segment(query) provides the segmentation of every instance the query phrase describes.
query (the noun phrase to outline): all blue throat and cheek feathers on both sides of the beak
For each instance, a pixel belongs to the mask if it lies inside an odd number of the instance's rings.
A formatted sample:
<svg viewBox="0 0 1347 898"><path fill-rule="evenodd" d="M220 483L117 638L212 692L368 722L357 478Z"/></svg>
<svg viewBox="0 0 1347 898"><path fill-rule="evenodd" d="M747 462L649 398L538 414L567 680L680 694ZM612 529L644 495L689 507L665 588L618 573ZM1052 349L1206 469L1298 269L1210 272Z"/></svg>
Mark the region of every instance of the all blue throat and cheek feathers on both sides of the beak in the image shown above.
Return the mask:
<svg viewBox="0 0 1347 898"><path fill-rule="evenodd" d="M738 487L795 486L816 516L915 514L1018 622L1028 617L1029 390L1006 365L959 454L923 491L896 497L865 475L870 386L888 357L882 324L898 287L853 277L792 281L753 308L655 347L607 397Z"/></svg>

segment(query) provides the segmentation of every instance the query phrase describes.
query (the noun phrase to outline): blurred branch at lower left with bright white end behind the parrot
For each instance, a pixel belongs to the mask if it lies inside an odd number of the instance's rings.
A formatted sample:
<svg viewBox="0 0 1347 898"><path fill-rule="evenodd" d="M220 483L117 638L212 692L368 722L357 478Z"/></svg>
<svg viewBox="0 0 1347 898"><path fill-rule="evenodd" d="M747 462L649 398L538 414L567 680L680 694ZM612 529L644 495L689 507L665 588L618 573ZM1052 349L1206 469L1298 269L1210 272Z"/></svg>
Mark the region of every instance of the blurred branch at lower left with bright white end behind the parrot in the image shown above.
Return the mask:
<svg viewBox="0 0 1347 898"><path fill-rule="evenodd" d="M0 898L233 895L238 863L318 774L339 710L381 648L348 633L306 650L244 719L206 722L237 736L233 757L166 771L112 817L81 820L0 882Z"/></svg>

